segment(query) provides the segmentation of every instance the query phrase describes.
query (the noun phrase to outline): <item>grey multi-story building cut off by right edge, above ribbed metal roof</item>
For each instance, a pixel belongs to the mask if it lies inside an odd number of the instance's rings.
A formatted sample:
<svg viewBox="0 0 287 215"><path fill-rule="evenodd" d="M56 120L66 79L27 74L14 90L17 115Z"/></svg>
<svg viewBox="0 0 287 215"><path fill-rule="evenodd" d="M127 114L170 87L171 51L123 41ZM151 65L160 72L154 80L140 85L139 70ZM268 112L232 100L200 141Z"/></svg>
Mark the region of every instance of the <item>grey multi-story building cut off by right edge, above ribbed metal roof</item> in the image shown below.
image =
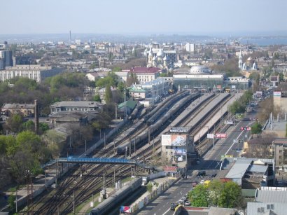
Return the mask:
<svg viewBox="0 0 287 215"><path fill-rule="evenodd" d="M276 138L273 141L275 167L287 172L287 138Z"/></svg>

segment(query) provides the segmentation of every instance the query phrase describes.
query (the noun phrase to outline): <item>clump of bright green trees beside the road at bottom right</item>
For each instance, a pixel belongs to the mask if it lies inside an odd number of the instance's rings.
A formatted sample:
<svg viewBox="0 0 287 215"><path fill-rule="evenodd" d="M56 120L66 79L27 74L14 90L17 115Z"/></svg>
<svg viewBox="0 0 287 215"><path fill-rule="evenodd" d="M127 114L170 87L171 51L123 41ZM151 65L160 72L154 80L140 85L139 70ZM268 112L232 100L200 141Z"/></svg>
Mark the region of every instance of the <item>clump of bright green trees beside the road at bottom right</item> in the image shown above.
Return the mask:
<svg viewBox="0 0 287 215"><path fill-rule="evenodd" d="M244 207L241 188L237 183L213 180L208 186L199 184L188 193L194 207Z"/></svg>

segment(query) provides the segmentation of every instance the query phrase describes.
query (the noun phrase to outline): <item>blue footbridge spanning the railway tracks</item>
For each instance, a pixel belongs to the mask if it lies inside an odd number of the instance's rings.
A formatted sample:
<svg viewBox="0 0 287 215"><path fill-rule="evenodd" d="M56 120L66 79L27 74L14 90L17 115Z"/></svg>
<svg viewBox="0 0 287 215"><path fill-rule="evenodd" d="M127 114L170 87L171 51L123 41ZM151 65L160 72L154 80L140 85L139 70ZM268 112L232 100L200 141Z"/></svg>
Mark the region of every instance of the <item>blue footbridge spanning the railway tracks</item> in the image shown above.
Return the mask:
<svg viewBox="0 0 287 215"><path fill-rule="evenodd" d="M123 158L74 158L74 157L68 157L68 158L57 158L52 163L78 163L78 164L120 164L120 165L136 165L138 167L144 168L144 169L151 169L155 170L157 172L160 172L160 170L156 169L153 166L147 166L144 165L142 162L138 162L137 160L128 160Z"/></svg>

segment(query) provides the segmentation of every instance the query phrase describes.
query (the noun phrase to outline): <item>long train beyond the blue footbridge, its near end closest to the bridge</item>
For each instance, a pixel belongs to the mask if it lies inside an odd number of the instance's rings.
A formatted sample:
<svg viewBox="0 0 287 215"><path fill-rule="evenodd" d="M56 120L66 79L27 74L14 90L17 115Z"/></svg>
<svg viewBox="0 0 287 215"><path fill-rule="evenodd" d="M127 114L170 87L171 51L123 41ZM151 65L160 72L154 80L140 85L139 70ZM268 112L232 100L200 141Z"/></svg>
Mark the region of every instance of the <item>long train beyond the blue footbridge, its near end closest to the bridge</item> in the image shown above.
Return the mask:
<svg viewBox="0 0 287 215"><path fill-rule="evenodd" d="M130 141L127 141L122 146L118 146L117 154L125 155L127 148L130 148L130 147L131 148L136 147L137 149L141 148L141 146L146 144L146 140L148 139L148 133L151 135L154 132L156 132L159 128L162 127L162 125L164 125L167 122L167 120L169 120L170 118L174 118L176 116L176 112L182 109L183 106L185 106L186 104L188 104L188 102L196 99L199 96L200 96L199 93L194 93L194 94L188 95L184 99L181 99L181 101L178 104L176 104L176 106L172 106L172 108L169 109L169 111L167 111L167 113L165 113L158 121L156 121L153 125L150 125L148 127L149 128L148 130L145 130L144 132L139 134L139 136L137 136L135 139L131 139ZM160 115L163 114L162 111L159 111L159 112L160 112Z"/></svg>

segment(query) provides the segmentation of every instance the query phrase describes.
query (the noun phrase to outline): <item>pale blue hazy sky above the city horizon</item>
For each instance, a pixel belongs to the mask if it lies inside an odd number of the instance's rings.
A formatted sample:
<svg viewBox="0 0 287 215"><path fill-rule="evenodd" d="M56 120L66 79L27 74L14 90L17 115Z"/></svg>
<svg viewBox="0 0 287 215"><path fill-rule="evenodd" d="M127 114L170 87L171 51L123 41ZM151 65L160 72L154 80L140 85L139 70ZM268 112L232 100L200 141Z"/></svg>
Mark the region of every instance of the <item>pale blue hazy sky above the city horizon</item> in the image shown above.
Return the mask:
<svg viewBox="0 0 287 215"><path fill-rule="evenodd" d="M287 0L2 0L0 34L287 32Z"/></svg>

